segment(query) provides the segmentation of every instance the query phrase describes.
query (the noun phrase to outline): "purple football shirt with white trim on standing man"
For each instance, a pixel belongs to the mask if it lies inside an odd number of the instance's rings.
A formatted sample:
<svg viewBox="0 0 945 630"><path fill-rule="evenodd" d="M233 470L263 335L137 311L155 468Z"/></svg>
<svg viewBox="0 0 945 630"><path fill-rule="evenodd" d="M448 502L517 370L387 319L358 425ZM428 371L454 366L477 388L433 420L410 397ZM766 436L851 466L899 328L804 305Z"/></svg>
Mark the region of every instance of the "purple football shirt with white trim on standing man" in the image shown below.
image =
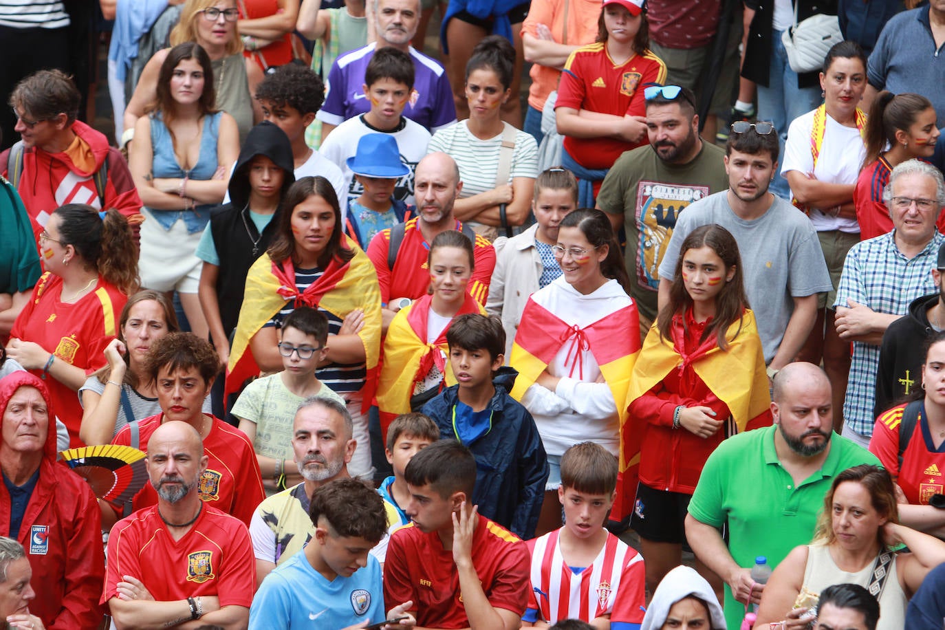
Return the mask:
<svg viewBox="0 0 945 630"><path fill-rule="evenodd" d="M328 94L317 118L323 123L338 126L349 118L367 113L370 102L362 87L364 73L370 58L374 56L374 45L352 50L332 64L328 73ZM456 121L453 90L446 71L421 52L410 46L410 58L416 68L414 88L404 108L404 116L427 128L431 133Z"/></svg>

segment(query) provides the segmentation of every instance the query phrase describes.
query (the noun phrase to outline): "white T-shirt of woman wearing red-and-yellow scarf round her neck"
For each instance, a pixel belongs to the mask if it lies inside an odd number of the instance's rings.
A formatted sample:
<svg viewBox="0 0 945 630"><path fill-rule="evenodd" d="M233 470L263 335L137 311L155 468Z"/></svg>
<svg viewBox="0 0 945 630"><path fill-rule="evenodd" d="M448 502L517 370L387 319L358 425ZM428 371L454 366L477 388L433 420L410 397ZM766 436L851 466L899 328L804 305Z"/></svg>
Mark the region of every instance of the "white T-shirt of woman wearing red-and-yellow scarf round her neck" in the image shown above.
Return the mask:
<svg viewBox="0 0 945 630"><path fill-rule="evenodd" d="M820 157L817 158L815 167L814 154L811 153L814 111L798 116L787 129L787 143L784 145L781 174L798 171L806 175L813 171L819 181L855 184L860 176L863 160L867 157L867 147L863 144L859 129L845 127L827 114L824 140L820 145ZM809 216L817 231L840 230L851 234L860 231L860 225L855 218L833 217L815 209L811 210Z"/></svg>

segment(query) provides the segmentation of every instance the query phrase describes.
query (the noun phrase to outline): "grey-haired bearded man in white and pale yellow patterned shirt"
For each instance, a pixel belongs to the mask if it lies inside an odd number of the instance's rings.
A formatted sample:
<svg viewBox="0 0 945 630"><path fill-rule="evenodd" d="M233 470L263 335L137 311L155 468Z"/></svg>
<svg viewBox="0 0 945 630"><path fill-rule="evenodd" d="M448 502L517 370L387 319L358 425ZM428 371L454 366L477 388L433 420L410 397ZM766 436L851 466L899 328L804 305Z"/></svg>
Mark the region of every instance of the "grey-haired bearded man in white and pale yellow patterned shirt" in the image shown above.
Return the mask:
<svg viewBox="0 0 945 630"><path fill-rule="evenodd" d="M293 421L292 449L305 481L260 503L249 522L257 585L315 535L309 517L312 495L330 481L351 477L348 464L357 447L352 434L352 416L344 403L310 397L299 406Z"/></svg>

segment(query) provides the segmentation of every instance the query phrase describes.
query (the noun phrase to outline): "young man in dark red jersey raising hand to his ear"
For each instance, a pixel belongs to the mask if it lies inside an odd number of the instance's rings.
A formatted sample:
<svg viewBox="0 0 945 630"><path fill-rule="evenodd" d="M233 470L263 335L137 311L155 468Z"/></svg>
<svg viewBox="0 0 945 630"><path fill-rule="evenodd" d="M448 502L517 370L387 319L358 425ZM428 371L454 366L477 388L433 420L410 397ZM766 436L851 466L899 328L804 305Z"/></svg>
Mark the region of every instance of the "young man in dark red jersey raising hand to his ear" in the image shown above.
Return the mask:
<svg viewBox="0 0 945 630"><path fill-rule="evenodd" d="M513 630L528 598L524 542L470 505L475 459L455 440L439 440L407 464L406 514L390 537L386 602L411 601L425 628Z"/></svg>

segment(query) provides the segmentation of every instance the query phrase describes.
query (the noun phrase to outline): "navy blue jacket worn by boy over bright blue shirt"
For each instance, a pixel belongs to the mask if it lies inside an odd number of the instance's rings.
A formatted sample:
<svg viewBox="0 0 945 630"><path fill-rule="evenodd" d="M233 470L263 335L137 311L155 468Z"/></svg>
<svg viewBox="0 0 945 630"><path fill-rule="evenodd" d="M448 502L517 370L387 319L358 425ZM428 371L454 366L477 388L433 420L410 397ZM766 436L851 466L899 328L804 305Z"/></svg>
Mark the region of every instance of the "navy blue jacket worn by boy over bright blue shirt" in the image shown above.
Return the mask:
<svg viewBox="0 0 945 630"><path fill-rule="evenodd" d="M522 404L508 395L519 373L500 367L492 380L495 395L489 401L492 428L466 446L475 457L472 503L479 514L492 519L523 540L535 536L535 527L548 481L548 457L535 420ZM455 439L453 407L459 385L453 385L423 405L442 438Z"/></svg>

